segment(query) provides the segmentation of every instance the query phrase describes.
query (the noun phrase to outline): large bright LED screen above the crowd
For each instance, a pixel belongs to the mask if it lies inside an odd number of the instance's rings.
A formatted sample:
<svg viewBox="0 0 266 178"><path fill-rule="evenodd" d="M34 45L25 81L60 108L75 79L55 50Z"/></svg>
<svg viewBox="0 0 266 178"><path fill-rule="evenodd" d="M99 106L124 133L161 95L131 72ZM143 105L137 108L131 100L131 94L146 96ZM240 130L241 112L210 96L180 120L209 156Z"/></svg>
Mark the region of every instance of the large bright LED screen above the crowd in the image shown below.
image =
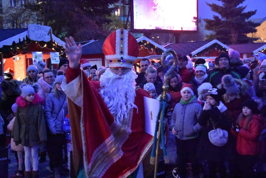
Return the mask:
<svg viewBox="0 0 266 178"><path fill-rule="evenodd" d="M197 30L197 0L133 0L134 29Z"/></svg>

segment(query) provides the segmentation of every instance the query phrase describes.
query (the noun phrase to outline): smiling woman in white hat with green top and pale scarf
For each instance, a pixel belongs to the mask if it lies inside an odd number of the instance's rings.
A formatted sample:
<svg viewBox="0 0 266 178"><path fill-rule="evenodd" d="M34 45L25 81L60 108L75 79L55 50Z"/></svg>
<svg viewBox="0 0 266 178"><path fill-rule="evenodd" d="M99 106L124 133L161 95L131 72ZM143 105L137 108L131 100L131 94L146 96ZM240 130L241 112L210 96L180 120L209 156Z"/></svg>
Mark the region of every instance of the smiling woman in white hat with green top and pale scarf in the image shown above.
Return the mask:
<svg viewBox="0 0 266 178"><path fill-rule="evenodd" d="M193 85L193 91L195 95L198 97L198 87L207 82L208 74L206 73L207 67L204 64L195 65L195 77L189 82L189 84Z"/></svg>

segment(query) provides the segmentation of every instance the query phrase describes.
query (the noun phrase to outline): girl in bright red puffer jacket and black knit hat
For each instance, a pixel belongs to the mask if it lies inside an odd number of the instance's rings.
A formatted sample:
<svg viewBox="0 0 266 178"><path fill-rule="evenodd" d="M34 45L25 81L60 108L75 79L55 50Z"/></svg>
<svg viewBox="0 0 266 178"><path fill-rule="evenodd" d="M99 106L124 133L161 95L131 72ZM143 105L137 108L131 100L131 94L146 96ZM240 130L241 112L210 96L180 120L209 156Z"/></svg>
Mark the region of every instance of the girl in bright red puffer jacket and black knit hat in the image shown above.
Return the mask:
<svg viewBox="0 0 266 178"><path fill-rule="evenodd" d="M254 166L261 153L262 143L259 141L259 135L263 130L264 120L254 100L245 100L242 107L242 113L231 129L232 134L236 136L239 177L259 177Z"/></svg>

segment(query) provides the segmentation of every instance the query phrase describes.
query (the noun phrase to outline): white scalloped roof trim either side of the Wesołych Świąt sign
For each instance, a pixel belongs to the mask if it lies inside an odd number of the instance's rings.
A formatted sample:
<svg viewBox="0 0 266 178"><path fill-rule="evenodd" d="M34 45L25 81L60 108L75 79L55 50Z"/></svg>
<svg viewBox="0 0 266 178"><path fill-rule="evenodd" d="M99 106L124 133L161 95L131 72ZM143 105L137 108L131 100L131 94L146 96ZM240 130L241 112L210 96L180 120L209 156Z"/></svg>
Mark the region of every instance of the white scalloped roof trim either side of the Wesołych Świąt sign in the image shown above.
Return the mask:
<svg viewBox="0 0 266 178"><path fill-rule="evenodd" d="M3 40L0 42L0 48L2 48L4 45L11 46L13 42L19 43L20 41L25 40L26 36L28 36L27 30L23 33L20 33L20 34L13 36L13 37L7 38L6 40ZM63 42L61 39L57 38L54 34L52 34L52 42L57 43L60 46L63 45L63 48L66 47L66 43Z"/></svg>

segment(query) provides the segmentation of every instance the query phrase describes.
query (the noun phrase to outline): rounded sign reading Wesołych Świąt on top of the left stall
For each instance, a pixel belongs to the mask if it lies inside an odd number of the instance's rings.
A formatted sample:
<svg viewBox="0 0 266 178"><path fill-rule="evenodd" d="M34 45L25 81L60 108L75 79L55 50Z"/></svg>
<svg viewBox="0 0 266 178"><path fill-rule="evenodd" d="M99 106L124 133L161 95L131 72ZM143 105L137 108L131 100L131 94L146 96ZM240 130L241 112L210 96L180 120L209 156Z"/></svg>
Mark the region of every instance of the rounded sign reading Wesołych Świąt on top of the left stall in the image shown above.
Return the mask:
<svg viewBox="0 0 266 178"><path fill-rule="evenodd" d="M52 28L44 25L29 24L28 37L34 41L51 41Z"/></svg>

